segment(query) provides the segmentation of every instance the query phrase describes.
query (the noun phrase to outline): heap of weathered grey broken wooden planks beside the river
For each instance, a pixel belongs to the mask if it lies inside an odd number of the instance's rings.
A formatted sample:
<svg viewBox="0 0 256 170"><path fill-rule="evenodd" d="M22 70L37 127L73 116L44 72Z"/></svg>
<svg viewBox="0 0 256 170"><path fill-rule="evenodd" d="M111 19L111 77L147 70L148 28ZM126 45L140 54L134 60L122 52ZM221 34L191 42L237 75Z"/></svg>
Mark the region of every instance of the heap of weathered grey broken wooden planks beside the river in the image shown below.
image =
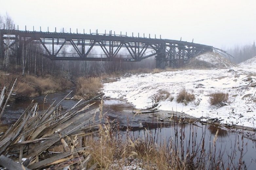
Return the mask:
<svg viewBox="0 0 256 170"><path fill-rule="evenodd" d="M101 95L103 94L94 98ZM2 94L0 102L1 96ZM90 159L90 155L86 154L88 148L82 147L78 139L97 133L101 120L94 119L101 109L97 107L88 111L94 103L89 104L91 100L86 102L80 100L71 109L60 111L58 107L61 106L62 101L57 104L54 101L49 108L41 112L38 111L38 103L32 101L20 118L0 136L2 167L7 169L88 168L86 165ZM51 152L56 146L61 146L63 151ZM96 165L89 167L89 169L94 168Z"/></svg>

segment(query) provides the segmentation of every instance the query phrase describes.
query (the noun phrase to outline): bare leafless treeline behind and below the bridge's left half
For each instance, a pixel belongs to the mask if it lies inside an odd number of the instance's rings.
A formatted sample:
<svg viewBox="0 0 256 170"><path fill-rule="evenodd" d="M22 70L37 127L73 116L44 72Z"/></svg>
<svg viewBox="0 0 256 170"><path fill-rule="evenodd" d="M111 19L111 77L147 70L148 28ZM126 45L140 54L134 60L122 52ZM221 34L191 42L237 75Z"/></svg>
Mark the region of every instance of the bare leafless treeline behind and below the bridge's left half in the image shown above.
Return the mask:
<svg viewBox="0 0 256 170"><path fill-rule="evenodd" d="M14 28L14 22L7 14L6 16L0 15L0 28L9 29ZM155 68L155 59L149 58L143 62L107 62L107 61L53 61L40 55L43 52L42 45L32 44L23 40L20 43L20 50L13 50L8 48L14 40L5 40L7 44L0 52L0 69L13 73L33 74L33 75L46 75L56 74L59 72L67 72L72 75L85 75L97 76L102 73L113 73L138 68ZM74 53L68 51L68 45L64 45L61 53ZM90 54L96 53L91 51ZM118 57L118 56L117 56Z"/></svg>

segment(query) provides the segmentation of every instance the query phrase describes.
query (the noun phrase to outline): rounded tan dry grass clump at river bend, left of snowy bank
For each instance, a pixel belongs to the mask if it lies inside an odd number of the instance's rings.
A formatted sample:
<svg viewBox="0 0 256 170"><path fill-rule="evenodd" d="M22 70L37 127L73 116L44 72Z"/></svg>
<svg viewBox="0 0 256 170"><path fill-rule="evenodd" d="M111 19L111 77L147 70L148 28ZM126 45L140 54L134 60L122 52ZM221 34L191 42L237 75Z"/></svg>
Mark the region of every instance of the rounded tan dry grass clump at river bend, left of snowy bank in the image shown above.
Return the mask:
<svg viewBox="0 0 256 170"><path fill-rule="evenodd" d="M75 99L90 99L103 87L100 77L79 77L76 80Z"/></svg>

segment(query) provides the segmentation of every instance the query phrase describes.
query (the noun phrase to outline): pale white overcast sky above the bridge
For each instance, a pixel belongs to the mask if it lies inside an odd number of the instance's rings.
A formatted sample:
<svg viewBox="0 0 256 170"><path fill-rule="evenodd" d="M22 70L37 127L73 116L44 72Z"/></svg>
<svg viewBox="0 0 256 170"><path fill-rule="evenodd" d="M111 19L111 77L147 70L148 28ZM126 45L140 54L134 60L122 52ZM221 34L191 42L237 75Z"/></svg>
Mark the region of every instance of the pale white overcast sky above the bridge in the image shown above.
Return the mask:
<svg viewBox="0 0 256 170"><path fill-rule="evenodd" d="M0 0L6 12L21 30L161 34L219 48L256 40L256 0Z"/></svg>

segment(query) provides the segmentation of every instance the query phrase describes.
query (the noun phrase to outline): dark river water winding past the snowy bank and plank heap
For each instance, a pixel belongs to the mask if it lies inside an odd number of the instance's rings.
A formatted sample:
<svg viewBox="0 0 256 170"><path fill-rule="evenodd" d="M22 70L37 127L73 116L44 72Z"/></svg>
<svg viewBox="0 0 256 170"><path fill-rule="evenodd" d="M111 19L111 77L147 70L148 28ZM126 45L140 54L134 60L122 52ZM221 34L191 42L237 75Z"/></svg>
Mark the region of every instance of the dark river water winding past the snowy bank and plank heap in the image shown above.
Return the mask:
<svg viewBox="0 0 256 170"><path fill-rule="evenodd" d="M39 103L39 110L43 107L46 109L54 100L58 103L61 101L70 90L48 94L47 103L43 105L45 96L38 96L33 98ZM72 94L71 94L72 96ZM20 116L20 114L26 109L32 99L26 101L10 102L6 108L1 121L4 124L0 128L0 132L4 131L8 126L14 123ZM72 108L78 101L64 100L62 102L63 108ZM247 169L256 169L256 142L255 132L243 131L238 129L227 129L225 127L216 127L214 125L203 125L199 122L195 123L196 126L183 123L168 123L161 122L156 116L151 114L138 114L135 115L132 111L134 107L125 101L115 99L103 100L103 112L110 120L115 120L123 134L126 133L126 127L130 127L129 135L133 137L145 137L147 134L155 136L156 143L168 142L170 140L175 141L175 131L178 131L178 144L180 141L180 135L185 134L184 145L188 145L189 137L191 137L191 130L196 132L195 141L200 144L202 136L205 138L206 152L213 144L215 133L218 130L218 138L216 141L216 150L221 151L225 163L229 161L229 156L234 153L236 149L236 155L234 155L234 162L237 163L240 158L239 147L242 148L243 144L243 160ZM96 101L96 104L92 108L98 107L100 101ZM182 132L181 132L182 130ZM242 140L242 136L244 136ZM186 152L186 147L185 147ZM229 155L229 156L228 156Z"/></svg>

